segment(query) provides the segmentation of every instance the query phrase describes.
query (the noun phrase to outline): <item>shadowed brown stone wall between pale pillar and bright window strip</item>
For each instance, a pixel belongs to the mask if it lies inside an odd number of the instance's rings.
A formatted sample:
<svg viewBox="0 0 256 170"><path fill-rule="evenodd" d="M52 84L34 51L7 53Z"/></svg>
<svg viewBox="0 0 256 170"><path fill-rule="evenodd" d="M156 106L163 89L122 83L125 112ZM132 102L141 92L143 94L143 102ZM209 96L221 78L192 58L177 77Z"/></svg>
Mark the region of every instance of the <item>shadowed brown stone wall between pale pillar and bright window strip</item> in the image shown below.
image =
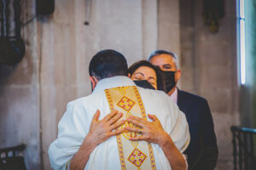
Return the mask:
<svg viewBox="0 0 256 170"><path fill-rule="evenodd" d="M225 1L218 33L204 24L201 0L180 1L181 87L206 98L218 139L217 169L232 168L231 125L239 125L236 3Z"/></svg>

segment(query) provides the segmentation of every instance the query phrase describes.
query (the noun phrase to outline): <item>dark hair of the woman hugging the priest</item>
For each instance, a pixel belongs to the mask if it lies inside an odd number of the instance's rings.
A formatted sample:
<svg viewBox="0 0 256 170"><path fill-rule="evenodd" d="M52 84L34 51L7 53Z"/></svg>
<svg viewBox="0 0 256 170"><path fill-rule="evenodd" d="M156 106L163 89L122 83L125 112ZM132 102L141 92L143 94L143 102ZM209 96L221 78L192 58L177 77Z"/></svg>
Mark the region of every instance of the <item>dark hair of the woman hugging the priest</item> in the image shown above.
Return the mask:
<svg viewBox="0 0 256 170"><path fill-rule="evenodd" d="M147 66L151 69L153 69L155 71L156 74L156 83L157 83L157 89L158 90L162 90L165 91L166 90L166 85L165 85L165 78L164 78L164 74L163 72L160 70L160 68L158 66L154 66L152 65L150 62L148 62L147 60L140 60L137 61L136 63L134 63L133 65L131 65L128 68L128 73L131 74L131 76L133 75L133 73L141 66Z"/></svg>

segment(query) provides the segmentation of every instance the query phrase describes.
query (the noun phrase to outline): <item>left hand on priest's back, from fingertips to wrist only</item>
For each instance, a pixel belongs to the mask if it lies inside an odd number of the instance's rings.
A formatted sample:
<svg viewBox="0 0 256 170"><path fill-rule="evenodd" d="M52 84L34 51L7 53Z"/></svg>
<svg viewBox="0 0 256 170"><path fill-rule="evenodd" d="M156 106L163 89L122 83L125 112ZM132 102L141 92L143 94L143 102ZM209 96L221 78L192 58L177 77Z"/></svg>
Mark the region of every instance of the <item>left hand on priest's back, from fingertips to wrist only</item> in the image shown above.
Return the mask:
<svg viewBox="0 0 256 170"><path fill-rule="evenodd" d="M108 138L124 132L124 129L117 129L125 123L125 120L119 121L119 119L123 116L123 113L112 111L101 121L98 121L99 116L100 111L96 111L96 114L94 115L90 124L90 131L86 137L94 144L102 144L102 142L106 141Z"/></svg>

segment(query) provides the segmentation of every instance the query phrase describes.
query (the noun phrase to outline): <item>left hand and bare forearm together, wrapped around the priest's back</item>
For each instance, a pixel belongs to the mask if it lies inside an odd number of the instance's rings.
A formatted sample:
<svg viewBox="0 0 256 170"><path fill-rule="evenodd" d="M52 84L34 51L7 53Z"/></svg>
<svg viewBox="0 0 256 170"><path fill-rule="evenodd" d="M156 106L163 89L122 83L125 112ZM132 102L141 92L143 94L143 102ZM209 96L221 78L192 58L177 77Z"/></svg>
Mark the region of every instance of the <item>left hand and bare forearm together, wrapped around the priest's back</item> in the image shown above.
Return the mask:
<svg viewBox="0 0 256 170"><path fill-rule="evenodd" d="M73 156L70 162L71 170L83 170L87 161L89 160L90 153L96 148L97 144L102 144L113 135L123 133L123 130L117 128L125 123L125 120L119 121L123 116L118 111L112 111L99 121L100 111L96 111L90 124L90 131L84 139L83 144L78 152ZM119 121L119 122L118 122Z"/></svg>

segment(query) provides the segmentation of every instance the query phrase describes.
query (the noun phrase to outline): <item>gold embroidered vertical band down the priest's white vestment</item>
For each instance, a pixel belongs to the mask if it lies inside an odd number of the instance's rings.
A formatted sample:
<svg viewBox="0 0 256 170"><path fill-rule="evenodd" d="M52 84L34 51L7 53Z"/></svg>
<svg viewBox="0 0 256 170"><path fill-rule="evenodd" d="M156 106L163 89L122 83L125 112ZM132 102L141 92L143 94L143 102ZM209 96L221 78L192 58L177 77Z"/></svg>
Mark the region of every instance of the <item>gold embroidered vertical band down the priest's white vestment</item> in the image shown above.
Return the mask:
<svg viewBox="0 0 256 170"><path fill-rule="evenodd" d="M110 110L117 110L124 114L120 120L129 116L137 116L147 120L143 100L136 86L105 89L105 94ZM136 125L125 122L119 128L124 127L136 127ZM139 135L141 134L127 131L116 136L122 170L156 170L152 145L146 141L130 140L131 137Z"/></svg>

